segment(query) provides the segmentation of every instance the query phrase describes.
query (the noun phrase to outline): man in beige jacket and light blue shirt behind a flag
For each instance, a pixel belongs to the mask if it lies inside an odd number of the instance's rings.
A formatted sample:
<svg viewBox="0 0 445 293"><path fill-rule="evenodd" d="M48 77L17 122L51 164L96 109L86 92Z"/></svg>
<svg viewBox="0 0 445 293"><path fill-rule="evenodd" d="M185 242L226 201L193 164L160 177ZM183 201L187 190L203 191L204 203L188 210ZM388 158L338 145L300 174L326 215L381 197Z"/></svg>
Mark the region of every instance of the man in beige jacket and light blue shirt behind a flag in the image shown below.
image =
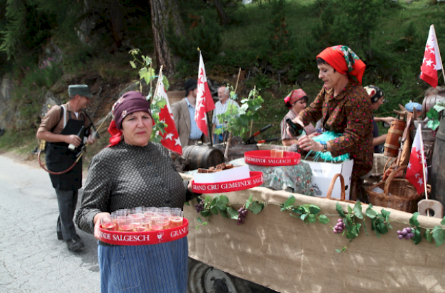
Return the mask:
<svg viewBox="0 0 445 293"><path fill-rule="evenodd" d="M186 89L186 98L172 104L173 118L179 134L179 141L184 147L194 145L198 141L209 142L201 130L199 130L196 121L194 121L194 110L196 106L196 95L198 94L198 83L196 79L188 79L184 83Z"/></svg>

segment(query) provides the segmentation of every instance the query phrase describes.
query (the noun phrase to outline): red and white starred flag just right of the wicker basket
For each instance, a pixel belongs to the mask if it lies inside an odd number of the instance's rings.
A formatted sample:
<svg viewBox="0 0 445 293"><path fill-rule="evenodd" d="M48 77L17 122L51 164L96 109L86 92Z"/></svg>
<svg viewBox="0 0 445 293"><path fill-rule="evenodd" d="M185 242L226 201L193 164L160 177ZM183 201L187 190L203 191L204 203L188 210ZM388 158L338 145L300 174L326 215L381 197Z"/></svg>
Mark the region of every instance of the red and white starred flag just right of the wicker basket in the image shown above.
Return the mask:
<svg viewBox="0 0 445 293"><path fill-rule="evenodd" d="M416 187L417 194L424 193L425 182L423 177L423 168L425 167L425 176L428 178L427 162L425 161L425 154L423 150L423 139L422 139L422 126L419 124L416 132L416 137L414 137L413 146L411 147L411 155L409 156L409 163L407 169L407 175L405 178L411 182L411 184Z"/></svg>

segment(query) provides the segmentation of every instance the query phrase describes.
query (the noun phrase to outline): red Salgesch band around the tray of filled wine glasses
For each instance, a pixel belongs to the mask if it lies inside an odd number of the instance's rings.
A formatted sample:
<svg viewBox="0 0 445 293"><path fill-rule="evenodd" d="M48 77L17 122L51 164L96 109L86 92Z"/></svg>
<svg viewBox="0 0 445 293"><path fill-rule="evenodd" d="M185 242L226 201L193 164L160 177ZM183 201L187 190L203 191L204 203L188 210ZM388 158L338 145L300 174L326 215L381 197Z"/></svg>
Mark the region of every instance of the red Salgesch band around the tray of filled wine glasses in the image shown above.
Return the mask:
<svg viewBox="0 0 445 293"><path fill-rule="evenodd" d="M148 232L118 232L101 229L101 241L112 245L154 245L175 241L188 234L188 220L179 227Z"/></svg>

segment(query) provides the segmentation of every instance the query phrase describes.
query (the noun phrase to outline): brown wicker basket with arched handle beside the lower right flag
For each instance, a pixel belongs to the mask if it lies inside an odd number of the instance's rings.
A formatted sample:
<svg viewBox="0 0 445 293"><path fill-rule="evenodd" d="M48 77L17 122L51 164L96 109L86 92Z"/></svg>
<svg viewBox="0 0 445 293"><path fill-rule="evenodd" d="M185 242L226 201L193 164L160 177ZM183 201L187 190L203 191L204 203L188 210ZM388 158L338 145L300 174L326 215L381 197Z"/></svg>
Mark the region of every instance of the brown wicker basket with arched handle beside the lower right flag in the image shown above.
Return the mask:
<svg viewBox="0 0 445 293"><path fill-rule="evenodd" d="M407 166L399 167L392 171L390 176L373 186L366 189L369 201L374 206L381 206L383 208L394 208L394 210L401 210L403 212L416 212L417 204L425 194L417 194L416 188L406 179L395 178L397 173L407 169ZM376 193L372 191L374 187L383 189L383 193ZM431 186L427 186L428 193L431 192Z"/></svg>

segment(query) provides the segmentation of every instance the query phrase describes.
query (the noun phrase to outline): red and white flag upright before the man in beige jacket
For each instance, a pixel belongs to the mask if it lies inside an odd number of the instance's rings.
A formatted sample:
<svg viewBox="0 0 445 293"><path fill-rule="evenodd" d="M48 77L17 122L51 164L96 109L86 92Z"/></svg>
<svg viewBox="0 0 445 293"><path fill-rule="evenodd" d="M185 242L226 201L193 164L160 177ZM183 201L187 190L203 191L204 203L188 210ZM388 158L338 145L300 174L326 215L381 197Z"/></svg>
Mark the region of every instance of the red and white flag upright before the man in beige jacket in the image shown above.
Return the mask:
<svg viewBox="0 0 445 293"><path fill-rule="evenodd" d="M207 131L207 112L215 109L215 103L210 93L209 85L207 84L207 77L205 76L205 68L203 56L199 51L199 70L198 70L198 94L196 95L196 107L194 110L194 121L198 128L209 136Z"/></svg>

